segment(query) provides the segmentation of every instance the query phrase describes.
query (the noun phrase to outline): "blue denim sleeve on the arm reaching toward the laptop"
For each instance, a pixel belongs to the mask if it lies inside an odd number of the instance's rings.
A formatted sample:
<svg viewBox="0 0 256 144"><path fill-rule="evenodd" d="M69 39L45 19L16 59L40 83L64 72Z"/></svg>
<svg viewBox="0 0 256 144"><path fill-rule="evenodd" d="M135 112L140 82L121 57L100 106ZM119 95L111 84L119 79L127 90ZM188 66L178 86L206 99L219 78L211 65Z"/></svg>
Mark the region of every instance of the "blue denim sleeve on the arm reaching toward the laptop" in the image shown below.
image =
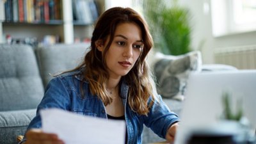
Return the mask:
<svg viewBox="0 0 256 144"><path fill-rule="evenodd" d="M148 103L151 102L151 98ZM152 129L158 136L165 138L170 126L179 122L179 116L170 111L159 95L159 101L155 101L148 115L143 116L144 124Z"/></svg>

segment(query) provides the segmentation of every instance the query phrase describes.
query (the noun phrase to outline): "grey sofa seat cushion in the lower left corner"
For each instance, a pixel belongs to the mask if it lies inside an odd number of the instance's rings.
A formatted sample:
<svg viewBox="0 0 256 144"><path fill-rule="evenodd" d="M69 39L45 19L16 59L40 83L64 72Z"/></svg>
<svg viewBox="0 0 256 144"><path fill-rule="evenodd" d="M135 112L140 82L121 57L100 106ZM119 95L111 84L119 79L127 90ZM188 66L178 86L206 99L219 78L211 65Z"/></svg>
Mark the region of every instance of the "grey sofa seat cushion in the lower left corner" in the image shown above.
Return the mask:
<svg viewBox="0 0 256 144"><path fill-rule="evenodd" d="M24 135L36 109L0 112L0 143L17 143L17 136Z"/></svg>

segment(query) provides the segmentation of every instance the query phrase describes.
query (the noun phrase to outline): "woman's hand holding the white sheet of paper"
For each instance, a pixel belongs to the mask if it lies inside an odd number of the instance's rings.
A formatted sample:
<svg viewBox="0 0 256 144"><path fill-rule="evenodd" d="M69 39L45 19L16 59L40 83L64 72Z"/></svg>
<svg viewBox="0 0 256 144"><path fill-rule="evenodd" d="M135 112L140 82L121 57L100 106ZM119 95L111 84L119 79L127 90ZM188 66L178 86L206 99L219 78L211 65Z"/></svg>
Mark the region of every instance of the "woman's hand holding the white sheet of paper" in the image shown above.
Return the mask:
<svg viewBox="0 0 256 144"><path fill-rule="evenodd" d="M26 132L26 144L64 144L57 134L45 133L41 129L30 129Z"/></svg>

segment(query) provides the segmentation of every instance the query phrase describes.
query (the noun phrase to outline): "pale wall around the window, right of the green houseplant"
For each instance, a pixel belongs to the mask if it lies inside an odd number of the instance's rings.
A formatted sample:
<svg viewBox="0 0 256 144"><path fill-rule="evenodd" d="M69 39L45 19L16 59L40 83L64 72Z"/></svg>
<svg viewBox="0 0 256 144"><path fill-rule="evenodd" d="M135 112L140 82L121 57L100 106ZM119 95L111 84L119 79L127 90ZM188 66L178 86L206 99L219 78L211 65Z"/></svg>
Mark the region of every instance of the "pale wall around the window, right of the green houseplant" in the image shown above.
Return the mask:
<svg viewBox="0 0 256 144"><path fill-rule="evenodd" d="M189 8L192 19L192 47L199 49L202 45L202 56L204 63L214 63L213 49L220 47L232 47L240 45L256 45L256 31L226 35L218 38L212 36L211 28L211 0L179 0L182 6ZM209 11L204 12L204 7Z"/></svg>

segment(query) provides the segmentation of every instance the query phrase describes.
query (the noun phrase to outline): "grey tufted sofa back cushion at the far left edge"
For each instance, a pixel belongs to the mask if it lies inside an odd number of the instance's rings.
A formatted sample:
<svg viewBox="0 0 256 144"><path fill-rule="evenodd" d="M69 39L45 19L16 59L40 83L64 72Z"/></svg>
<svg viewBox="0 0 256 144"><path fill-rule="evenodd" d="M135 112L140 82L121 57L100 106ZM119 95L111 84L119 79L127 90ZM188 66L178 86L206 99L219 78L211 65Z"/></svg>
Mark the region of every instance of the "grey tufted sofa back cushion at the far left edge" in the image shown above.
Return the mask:
<svg viewBox="0 0 256 144"><path fill-rule="evenodd" d="M33 48L1 44L0 61L0 111L36 108L44 86Z"/></svg>

